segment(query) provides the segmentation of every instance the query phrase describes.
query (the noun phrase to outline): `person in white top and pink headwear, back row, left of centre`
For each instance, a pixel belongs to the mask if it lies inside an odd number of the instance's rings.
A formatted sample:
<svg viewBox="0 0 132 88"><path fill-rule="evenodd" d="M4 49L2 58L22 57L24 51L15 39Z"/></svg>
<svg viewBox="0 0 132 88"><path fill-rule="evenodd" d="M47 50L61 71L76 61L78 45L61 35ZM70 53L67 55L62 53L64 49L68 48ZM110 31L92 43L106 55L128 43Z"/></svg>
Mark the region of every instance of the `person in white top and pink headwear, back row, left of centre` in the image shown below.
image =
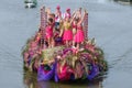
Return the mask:
<svg viewBox="0 0 132 88"><path fill-rule="evenodd" d="M61 19L62 19L62 11L61 11L61 7L57 6L56 7L56 12L55 12L55 28L56 28L56 30L59 29Z"/></svg>

